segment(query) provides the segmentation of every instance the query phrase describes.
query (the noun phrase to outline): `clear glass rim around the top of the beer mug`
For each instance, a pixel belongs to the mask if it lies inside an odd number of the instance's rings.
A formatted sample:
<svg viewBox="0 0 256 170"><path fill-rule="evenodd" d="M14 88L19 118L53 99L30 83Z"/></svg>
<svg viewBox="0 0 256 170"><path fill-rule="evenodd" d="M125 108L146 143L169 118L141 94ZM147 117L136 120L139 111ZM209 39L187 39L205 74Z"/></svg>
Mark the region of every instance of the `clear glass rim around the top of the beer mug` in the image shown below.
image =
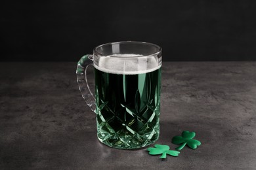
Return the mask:
<svg viewBox="0 0 256 170"><path fill-rule="evenodd" d="M154 52L152 54L148 54L146 56L157 56L158 54L161 53L161 47L157 44L154 44L154 43L151 43L151 42L144 42L144 41L117 41L117 42L108 42L108 43L105 43L105 44L100 44L98 46L96 46L95 48L93 48L93 54L96 54L96 56L106 56L106 55L103 55L101 54L100 52L98 52L96 49L102 47L102 46L106 46L108 44L122 44L122 43L125 43L125 42L131 42L131 43L137 43L137 44L148 44L148 45L151 45L151 46L155 46L156 48L158 48L158 51L157 52ZM107 56L110 56L112 58L119 58L119 56L112 56L112 55L107 55ZM143 57L144 55L142 56L127 56L127 57L123 57L123 58L138 58L138 57Z"/></svg>

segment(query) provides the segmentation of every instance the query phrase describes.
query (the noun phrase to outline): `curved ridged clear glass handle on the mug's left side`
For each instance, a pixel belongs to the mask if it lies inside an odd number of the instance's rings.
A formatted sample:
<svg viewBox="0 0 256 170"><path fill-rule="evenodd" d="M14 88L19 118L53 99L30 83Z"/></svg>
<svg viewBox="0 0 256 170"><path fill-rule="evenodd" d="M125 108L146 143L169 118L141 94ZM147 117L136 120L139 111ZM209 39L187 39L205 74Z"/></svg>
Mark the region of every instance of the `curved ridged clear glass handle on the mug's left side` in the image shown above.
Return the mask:
<svg viewBox="0 0 256 170"><path fill-rule="evenodd" d="M93 65L93 55L87 54L83 56L77 63L76 75L77 75L77 83L79 90L82 94L83 99L85 99L85 103L95 112L95 97L89 88L89 84L87 82L87 68L89 65Z"/></svg>

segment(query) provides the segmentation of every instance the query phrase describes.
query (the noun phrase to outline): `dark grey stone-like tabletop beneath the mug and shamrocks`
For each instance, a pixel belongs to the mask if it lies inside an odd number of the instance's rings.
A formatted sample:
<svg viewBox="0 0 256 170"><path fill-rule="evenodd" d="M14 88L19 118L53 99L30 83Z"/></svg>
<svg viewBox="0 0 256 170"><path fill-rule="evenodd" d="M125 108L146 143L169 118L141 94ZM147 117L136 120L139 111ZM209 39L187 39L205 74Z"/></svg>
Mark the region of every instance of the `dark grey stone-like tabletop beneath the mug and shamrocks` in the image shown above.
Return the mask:
<svg viewBox="0 0 256 170"><path fill-rule="evenodd" d="M166 160L98 141L76 63L0 63L0 169L256 169L256 62L162 68L156 144L184 130L202 142Z"/></svg>

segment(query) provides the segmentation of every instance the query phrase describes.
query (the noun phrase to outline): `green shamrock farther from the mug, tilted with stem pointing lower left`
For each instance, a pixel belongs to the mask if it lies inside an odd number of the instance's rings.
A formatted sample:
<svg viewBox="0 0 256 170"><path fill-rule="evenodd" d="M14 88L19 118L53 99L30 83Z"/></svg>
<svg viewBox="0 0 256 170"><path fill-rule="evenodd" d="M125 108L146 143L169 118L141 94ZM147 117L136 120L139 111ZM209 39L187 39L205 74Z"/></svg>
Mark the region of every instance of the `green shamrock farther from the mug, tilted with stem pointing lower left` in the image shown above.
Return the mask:
<svg viewBox="0 0 256 170"><path fill-rule="evenodd" d="M196 133L194 131L183 131L181 136L175 136L172 139L172 143L174 144L182 144L181 146L178 146L175 148L176 150L182 150L186 144L192 149L197 148L200 146L200 141L193 139L196 136Z"/></svg>

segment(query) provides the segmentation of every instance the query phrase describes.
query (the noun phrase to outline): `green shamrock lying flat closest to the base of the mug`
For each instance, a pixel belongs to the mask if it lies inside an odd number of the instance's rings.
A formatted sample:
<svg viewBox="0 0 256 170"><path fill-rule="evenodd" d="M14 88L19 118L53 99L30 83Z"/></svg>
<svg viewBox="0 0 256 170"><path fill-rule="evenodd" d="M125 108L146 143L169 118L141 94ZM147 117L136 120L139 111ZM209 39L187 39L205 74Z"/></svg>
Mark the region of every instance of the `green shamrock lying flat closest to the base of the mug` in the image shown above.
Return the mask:
<svg viewBox="0 0 256 170"><path fill-rule="evenodd" d="M168 145L162 145L162 144L155 144L155 148L148 148L150 155L159 155L161 154L160 158L166 158L166 154L169 154L171 156L179 156L181 152L177 150L169 150L170 147Z"/></svg>

